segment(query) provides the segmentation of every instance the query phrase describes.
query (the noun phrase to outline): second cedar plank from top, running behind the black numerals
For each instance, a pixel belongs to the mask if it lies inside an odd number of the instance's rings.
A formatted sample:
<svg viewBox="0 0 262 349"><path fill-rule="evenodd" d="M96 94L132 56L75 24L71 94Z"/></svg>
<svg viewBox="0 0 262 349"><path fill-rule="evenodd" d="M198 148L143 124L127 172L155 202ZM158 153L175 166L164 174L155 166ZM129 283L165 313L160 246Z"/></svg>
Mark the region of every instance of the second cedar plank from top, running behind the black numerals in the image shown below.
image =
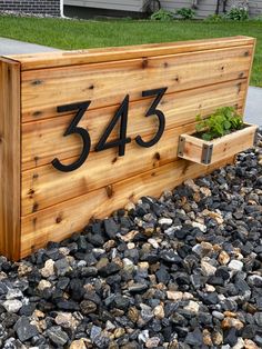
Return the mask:
<svg viewBox="0 0 262 349"><path fill-rule="evenodd" d="M165 129L191 123L198 113L205 117L219 107L234 106L242 109L244 90L245 80L239 79L165 94L159 107L165 114ZM130 103L128 136L131 139L138 134L152 134L158 129L157 117L144 118L151 103L152 99ZM89 130L91 150L117 109L118 106L112 106L85 112L79 126ZM72 118L73 114L61 114L58 118L22 124L22 170L50 163L56 157L63 160L81 152L82 144L78 136L63 137ZM118 128L114 128L110 140L117 138L117 131Z"/></svg>

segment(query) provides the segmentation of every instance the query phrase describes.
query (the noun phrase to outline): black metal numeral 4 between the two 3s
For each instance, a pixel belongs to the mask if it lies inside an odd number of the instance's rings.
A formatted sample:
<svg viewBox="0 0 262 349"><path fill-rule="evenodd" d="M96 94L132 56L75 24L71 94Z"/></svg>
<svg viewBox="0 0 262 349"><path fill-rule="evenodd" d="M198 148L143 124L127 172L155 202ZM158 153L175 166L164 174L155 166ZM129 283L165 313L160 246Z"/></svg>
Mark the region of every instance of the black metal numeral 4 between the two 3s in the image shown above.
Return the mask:
<svg viewBox="0 0 262 349"><path fill-rule="evenodd" d="M131 138L129 137L127 138L128 112L129 112L129 94L125 96L124 100L122 101L121 106L115 112L113 119L108 124L103 136L101 137L100 141L98 142L95 147L95 151L101 151L104 149L119 147L119 156L120 157L124 156L125 144L131 142ZM115 127L120 118L121 118L121 122L120 122L119 139L107 143L107 140L110 133L112 132L113 128Z"/></svg>

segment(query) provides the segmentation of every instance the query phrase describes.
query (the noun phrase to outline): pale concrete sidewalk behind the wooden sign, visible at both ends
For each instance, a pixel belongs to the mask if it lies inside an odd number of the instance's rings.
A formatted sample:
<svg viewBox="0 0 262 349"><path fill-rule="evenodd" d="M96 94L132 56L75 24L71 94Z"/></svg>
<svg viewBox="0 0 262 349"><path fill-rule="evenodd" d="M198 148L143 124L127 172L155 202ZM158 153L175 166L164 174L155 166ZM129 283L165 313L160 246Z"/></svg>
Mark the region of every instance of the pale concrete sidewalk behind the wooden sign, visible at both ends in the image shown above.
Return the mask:
<svg viewBox="0 0 262 349"><path fill-rule="evenodd" d="M37 53L60 51L50 47L0 38L0 56L18 53ZM250 87L245 106L244 119L246 122L262 127L262 88Z"/></svg>

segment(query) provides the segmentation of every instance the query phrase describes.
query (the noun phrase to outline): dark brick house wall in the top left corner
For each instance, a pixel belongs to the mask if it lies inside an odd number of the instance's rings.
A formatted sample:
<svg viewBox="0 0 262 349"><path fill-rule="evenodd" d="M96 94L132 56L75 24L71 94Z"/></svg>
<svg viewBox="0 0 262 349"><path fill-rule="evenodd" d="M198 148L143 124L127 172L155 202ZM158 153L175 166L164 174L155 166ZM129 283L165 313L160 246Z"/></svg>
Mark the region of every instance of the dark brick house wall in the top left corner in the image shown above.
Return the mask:
<svg viewBox="0 0 262 349"><path fill-rule="evenodd" d="M0 12L14 11L33 14L60 16L60 0L0 0Z"/></svg>

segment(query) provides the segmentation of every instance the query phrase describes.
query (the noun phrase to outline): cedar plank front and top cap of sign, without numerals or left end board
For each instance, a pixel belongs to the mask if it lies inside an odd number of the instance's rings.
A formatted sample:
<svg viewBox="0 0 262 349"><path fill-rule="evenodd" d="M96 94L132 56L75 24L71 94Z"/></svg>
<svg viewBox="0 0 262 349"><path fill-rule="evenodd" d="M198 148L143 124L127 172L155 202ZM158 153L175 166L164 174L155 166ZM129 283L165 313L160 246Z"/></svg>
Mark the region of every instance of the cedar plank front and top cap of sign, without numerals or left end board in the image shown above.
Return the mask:
<svg viewBox="0 0 262 349"><path fill-rule="evenodd" d="M220 106L243 111L253 46L254 39L235 37L11 57L21 67L22 144L21 252L12 258L24 257L48 240L59 241L128 200L159 196L187 178L232 161L226 158L203 169L178 160L178 137L193 130L198 112L206 116ZM81 151L78 137L62 137L74 113L60 114L58 106L91 100L79 126L90 130L95 144L129 93L128 136L133 139L139 132L145 139L153 137L158 122L144 118L153 98L141 93L165 86L159 109L165 113L167 129L158 144L143 149L132 141L124 158L118 158L117 149L95 153L92 148L82 168L64 177L50 166L53 157L66 163Z"/></svg>

